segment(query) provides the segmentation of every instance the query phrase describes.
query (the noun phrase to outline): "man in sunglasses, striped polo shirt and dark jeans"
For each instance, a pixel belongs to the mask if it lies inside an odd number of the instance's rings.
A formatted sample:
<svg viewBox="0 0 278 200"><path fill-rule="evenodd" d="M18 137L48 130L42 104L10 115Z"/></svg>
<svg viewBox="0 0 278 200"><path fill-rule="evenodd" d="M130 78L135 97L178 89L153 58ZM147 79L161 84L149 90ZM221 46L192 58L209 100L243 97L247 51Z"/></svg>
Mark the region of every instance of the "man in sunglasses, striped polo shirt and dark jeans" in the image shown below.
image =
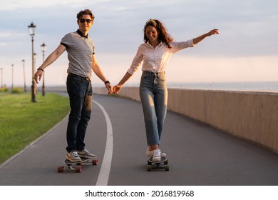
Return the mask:
<svg viewBox="0 0 278 200"><path fill-rule="evenodd" d="M109 93L113 86L105 78L95 56L93 40L88 37L88 31L93 26L92 12L88 9L77 14L78 30L63 36L61 44L53 51L46 61L36 71L34 79L38 84L43 76L44 69L56 61L64 51L68 52L68 77L66 81L70 99L71 112L68 118L66 139L66 159L78 162L81 158L95 159L96 156L85 149L84 139L88 121L91 118L92 86L91 70L101 79Z"/></svg>

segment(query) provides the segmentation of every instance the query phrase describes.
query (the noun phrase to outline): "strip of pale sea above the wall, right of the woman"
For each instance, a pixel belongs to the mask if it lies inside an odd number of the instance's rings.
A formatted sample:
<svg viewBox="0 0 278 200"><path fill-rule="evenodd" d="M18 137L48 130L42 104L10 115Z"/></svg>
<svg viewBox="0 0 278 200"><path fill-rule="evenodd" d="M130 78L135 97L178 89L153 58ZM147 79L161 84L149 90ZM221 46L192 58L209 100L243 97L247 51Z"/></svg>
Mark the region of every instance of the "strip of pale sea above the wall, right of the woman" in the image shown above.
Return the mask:
<svg viewBox="0 0 278 200"><path fill-rule="evenodd" d="M278 81L168 83L168 88L278 92Z"/></svg>

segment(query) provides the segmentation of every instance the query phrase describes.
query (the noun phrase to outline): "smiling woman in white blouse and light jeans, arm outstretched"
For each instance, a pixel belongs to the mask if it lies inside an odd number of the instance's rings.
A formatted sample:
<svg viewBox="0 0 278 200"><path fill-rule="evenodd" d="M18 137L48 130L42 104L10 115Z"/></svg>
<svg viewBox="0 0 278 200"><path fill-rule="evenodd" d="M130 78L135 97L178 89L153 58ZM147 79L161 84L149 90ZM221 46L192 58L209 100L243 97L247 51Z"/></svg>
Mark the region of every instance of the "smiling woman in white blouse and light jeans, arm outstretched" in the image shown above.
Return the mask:
<svg viewBox="0 0 278 200"><path fill-rule="evenodd" d="M148 143L146 155L153 157L153 161L160 161L161 156L165 156L164 153L161 153L159 144L167 112L168 90L165 69L168 61L175 52L193 47L212 34L219 34L218 30L213 29L195 39L177 42L168 34L160 21L150 19L144 27L145 43L139 46L130 68L118 85L114 87L114 93L118 94L123 84L138 70L143 61L140 99Z"/></svg>

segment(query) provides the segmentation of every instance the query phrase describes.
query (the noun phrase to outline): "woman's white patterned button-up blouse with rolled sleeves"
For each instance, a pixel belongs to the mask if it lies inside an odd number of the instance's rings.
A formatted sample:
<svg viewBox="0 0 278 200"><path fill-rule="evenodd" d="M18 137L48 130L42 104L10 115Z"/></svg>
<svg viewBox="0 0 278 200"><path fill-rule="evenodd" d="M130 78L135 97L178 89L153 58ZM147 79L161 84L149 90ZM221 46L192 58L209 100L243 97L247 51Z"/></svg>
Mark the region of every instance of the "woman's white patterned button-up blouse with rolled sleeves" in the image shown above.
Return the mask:
<svg viewBox="0 0 278 200"><path fill-rule="evenodd" d="M194 44L193 39L190 39L187 41L172 41L170 42L170 46L172 48L168 48L168 45L166 45L164 42L160 42L156 48L153 48L149 42L141 44L131 63L130 69L128 69L128 73L133 75L135 71L138 70L142 61L143 71L165 71L170 57L175 54L175 52L187 47L193 47Z"/></svg>

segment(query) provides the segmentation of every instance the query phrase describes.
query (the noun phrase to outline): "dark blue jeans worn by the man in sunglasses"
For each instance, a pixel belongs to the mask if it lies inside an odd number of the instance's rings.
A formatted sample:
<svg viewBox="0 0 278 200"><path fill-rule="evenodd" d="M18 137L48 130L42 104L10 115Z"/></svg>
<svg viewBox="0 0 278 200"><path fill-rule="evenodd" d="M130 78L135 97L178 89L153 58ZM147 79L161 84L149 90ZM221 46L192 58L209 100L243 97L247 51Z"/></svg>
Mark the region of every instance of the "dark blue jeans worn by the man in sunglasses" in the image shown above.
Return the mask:
<svg viewBox="0 0 278 200"><path fill-rule="evenodd" d="M71 106L66 131L68 143L66 150L81 151L85 147L86 129L91 119L93 93L91 81L75 74L68 74L66 87Z"/></svg>

